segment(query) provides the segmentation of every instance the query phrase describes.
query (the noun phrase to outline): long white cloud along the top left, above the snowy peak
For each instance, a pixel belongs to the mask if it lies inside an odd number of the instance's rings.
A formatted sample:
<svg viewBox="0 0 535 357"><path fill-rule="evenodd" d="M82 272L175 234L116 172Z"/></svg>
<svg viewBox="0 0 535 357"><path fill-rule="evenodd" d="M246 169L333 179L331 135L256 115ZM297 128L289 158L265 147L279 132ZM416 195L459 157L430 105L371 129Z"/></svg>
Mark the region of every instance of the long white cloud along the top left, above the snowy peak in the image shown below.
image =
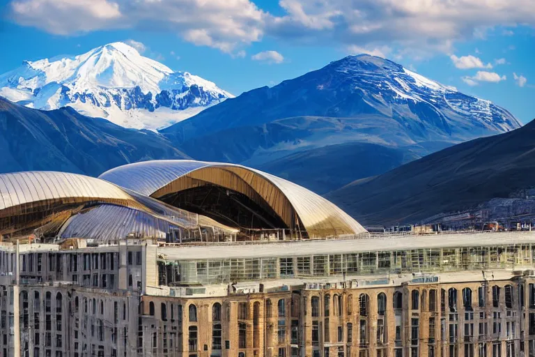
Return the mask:
<svg viewBox="0 0 535 357"><path fill-rule="evenodd" d="M265 13L250 0L12 0L15 22L70 35L108 29L172 31L231 53L261 39Z"/></svg>

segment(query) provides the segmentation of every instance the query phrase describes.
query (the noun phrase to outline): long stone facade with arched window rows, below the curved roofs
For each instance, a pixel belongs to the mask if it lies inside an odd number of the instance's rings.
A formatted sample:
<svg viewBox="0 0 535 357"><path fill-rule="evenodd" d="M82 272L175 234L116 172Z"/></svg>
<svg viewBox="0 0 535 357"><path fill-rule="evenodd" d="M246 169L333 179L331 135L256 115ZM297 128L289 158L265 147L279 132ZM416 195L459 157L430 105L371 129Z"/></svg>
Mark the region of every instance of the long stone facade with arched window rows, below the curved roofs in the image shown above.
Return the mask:
<svg viewBox="0 0 535 357"><path fill-rule="evenodd" d="M184 247L138 240L66 249L56 244L3 243L0 354L535 356L535 236L517 236L520 243L511 244L503 243L504 238L495 234L472 243L488 252L499 247L497 265L487 257L490 266L479 270L465 264L445 266L444 257L451 250L457 261L467 258L462 254L466 243L456 247L458 241L444 235L435 238L440 241L433 241L433 248L424 241L414 242L416 238L408 243L426 251L440 250L441 269L426 271L405 264L407 271L384 272L380 261L375 261L375 271L330 273L338 253L329 251L335 249L333 241L324 241L325 248L317 254L329 255L326 261L332 265L325 276L299 276L297 266L278 259L277 274L271 279L242 278L217 284L185 281L193 276L191 269L178 270L178 278L162 284L169 278L162 276L167 272L162 263L171 264L175 257L181 261L176 262L178 267L194 259L197 269L205 269L196 250ZM359 251L352 240L340 249L359 255L357 268L364 267L362 259L369 252L380 257L394 250L388 241L368 243L366 252ZM267 243L258 252L264 257L281 254L283 249L277 244ZM307 257L307 243L292 244L301 249L288 250L284 257L295 255L295 262L297 256ZM206 251L206 267L214 268L210 261L218 257L207 247L199 249ZM225 249L240 247L219 248ZM479 252L472 253L473 259L479 259ZM316 265L319 261L325 259L316 259ZM241 271L241 266L233 264Z"/></svg>

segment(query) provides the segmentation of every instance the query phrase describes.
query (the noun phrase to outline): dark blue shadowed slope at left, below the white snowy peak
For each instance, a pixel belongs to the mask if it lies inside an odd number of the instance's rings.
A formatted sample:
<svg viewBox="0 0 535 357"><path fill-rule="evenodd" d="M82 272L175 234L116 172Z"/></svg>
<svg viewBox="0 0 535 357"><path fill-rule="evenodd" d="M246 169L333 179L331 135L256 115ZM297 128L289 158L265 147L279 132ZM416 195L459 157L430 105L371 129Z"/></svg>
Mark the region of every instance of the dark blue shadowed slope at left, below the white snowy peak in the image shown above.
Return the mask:
<svg viewBox="0 0 535 357"><path fill-rule="evenodd" d="M188 158L162 135L66 107L29 109L0 98L0 172L58 170L98 176L129 162Z"/></svg>

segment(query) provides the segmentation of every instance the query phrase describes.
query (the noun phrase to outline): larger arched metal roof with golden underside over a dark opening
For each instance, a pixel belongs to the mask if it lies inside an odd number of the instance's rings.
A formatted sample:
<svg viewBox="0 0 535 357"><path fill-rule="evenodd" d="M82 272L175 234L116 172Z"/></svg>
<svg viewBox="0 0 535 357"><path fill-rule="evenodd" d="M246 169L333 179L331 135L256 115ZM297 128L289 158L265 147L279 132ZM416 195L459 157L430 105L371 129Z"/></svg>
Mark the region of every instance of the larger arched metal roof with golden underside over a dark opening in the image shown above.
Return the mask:
<svg viewBox="0 0 535 357"><path fill-rule="evenodd" d="M99 179L154 198L202 185L219 185L247 195L261 206L267 204L288 227L297 215L311 237L366 231L347 213L310 190L241 165L153 160L116 167L104 172Z"/></svg>

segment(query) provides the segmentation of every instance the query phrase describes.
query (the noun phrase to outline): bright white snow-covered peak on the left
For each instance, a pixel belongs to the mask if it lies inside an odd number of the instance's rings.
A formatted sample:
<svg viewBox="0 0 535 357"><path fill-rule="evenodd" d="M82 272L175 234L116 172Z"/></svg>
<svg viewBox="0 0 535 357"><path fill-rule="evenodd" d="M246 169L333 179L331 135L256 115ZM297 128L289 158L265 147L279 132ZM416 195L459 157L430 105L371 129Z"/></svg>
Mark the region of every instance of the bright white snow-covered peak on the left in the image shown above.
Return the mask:
<svg viewBox="0 0 535 357"><path fill-rule="evenodd" d="M126 128L170 126L231 93L187 72L174 72L125 43L79 56L25 61L0 75L0 96L36 109L70 106Z"/></svg>

